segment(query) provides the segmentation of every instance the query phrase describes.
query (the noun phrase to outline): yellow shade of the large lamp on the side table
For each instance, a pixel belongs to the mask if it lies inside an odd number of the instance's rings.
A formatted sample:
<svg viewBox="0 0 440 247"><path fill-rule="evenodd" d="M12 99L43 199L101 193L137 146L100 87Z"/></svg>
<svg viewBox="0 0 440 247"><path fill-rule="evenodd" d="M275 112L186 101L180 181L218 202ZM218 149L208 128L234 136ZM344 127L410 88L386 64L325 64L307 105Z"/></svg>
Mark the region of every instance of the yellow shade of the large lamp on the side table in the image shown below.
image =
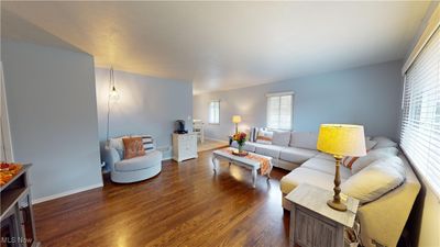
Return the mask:
<svg viewBox="0 0 440 247"><path fill-rule="evenodd" d="M362 125L321 124L317 149L336 157L366 154L365 134Z"/></svg>

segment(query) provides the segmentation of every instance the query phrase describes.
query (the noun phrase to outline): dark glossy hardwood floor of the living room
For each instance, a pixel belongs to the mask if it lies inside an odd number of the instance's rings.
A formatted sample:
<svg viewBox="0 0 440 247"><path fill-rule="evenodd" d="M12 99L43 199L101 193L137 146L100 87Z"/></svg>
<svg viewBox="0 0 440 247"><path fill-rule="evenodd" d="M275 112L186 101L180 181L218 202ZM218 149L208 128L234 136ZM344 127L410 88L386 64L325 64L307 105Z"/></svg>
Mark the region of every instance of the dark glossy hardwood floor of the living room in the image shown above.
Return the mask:
<svg viewBox="0 0 440 247"><path fill-rule="evenodd" d="M164 161L155 178L131 184L105 179L105 187L34 207L43 246L287 246L288 213L282 209L274 169L258 175L221 162L215 176L211 151L180 165Z"/></svg>

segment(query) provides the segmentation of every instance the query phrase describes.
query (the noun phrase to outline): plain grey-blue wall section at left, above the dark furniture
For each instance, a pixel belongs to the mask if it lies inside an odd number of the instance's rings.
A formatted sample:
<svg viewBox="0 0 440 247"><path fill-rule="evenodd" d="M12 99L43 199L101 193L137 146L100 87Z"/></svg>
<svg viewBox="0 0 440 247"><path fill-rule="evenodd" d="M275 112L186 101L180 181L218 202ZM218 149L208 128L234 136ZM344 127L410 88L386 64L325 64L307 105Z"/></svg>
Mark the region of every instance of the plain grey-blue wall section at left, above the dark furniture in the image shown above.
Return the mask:
<svg viewBox="0 0 440 247"><path fill-rule="evenodd" d="M1 40L16 161L33 162L33 199L102 186L94 58Z"/></svg>

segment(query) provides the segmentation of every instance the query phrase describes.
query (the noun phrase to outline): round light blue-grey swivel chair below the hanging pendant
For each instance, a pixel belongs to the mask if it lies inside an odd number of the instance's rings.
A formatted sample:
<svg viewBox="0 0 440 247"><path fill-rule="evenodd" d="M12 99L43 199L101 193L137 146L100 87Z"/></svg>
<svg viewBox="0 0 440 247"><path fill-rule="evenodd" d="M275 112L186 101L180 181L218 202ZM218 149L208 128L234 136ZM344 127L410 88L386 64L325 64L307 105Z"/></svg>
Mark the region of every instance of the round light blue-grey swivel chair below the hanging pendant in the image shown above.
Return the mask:
<svg viewBox="0 0 440 247"><path fill-rule="evenodd" d="M118 183L138 182L152 178L162 170L162 153L155 148L144 156L123 159L123 137L111 138L105 147L105 161L110 168L111 181ZM154 145L153 145L154 146Z"/></svg>

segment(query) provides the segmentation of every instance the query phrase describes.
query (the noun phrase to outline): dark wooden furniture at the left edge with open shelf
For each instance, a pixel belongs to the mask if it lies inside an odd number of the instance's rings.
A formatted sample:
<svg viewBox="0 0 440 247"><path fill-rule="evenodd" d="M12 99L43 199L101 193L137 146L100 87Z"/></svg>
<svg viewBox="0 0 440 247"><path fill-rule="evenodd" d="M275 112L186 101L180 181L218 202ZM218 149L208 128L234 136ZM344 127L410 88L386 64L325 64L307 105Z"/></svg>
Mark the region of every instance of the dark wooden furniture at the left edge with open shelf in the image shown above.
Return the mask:
<svg viewBox="0 0 440 247"><path fill-rule="evenodd" d="M32 210L29 168L23 168L4 186L1 195L1 247L38 247Z"/></svg>

